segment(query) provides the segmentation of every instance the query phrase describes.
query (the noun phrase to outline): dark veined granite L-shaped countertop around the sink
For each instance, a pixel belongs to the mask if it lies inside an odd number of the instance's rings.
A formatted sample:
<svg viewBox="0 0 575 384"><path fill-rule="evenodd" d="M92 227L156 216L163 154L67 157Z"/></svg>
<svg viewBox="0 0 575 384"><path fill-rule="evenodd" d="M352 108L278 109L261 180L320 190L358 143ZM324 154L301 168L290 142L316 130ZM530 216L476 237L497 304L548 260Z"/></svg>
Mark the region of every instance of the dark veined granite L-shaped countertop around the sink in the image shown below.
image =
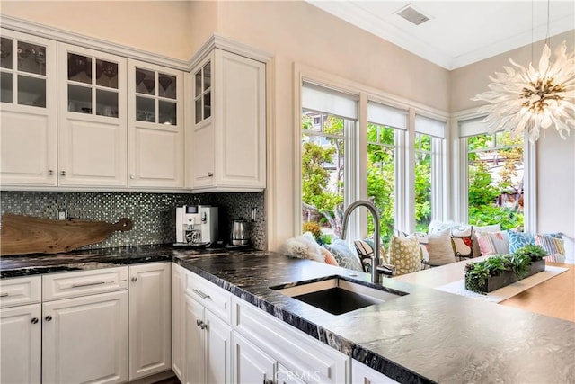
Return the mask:
<svg viewBox="0 0 575 384"><path fill-rule="evenodd" d="M335 316L269 287L355 272L271 252L133 246L2 257L0 269L4 278L169 260L400 382L575 382L575 323L394 279L383 289L408 295Z"/></svg>

